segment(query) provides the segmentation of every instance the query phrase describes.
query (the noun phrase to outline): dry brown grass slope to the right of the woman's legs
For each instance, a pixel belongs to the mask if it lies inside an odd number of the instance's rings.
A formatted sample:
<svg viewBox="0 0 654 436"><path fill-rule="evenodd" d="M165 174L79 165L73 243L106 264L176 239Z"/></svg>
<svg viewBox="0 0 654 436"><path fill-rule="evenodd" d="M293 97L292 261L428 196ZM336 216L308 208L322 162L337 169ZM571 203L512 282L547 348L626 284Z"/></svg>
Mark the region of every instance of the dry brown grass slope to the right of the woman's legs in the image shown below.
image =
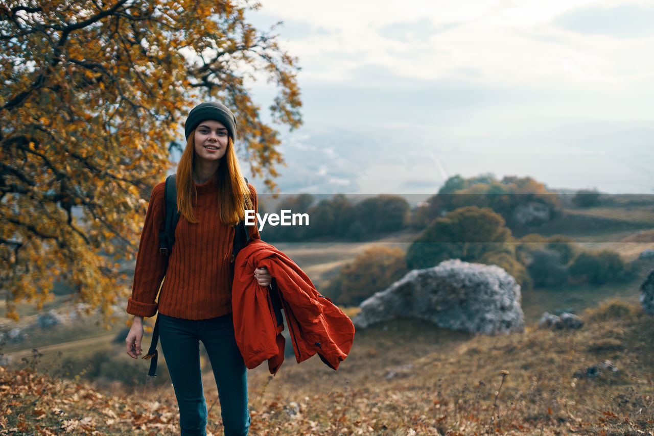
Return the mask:
<svg viewBox="0 0 654 436"><path fill-rule="evenodd" d="M651 435L652 318L636 308L618 318L599 312L579 331L504 337L415 321L373 326L357 333L337 373L319 361L283 367L256 411L256 434ZM576 376L606 360L616 373ZM299 416L275 412L292 402Z"/></svg>

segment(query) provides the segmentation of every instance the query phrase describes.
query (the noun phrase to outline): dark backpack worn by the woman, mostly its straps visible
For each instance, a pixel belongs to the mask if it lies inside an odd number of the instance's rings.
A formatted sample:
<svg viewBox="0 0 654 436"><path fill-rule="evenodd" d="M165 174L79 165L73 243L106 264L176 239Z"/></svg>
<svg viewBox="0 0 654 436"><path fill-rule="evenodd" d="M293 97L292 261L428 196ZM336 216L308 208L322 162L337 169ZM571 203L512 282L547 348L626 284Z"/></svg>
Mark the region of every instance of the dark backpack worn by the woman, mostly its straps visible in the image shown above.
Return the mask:
<svg viewBox="0 0 654 436"><path fill-rule="evenodd" d="M247 178L245 183L247 184ZM175 243L175 227L179 222L179 210L177 210L177 183L175 182L175 175L169 175L165 179L165 188L163 190L163 209L165 210L165 225L163 231L159 233L159 252L163 256L170 254L170 250ZM234 225L234 241L232 246L232 258L230 262L233 263L241 248L245 247L250 242L250 232L245 228L245 220L240 220L238 224ZM157 343L159 342L159 316L154 321L152 327L152 341L148 354L143 356L142 359L150 360L150 369L148 375L154 377L157 369Z"/></svg>

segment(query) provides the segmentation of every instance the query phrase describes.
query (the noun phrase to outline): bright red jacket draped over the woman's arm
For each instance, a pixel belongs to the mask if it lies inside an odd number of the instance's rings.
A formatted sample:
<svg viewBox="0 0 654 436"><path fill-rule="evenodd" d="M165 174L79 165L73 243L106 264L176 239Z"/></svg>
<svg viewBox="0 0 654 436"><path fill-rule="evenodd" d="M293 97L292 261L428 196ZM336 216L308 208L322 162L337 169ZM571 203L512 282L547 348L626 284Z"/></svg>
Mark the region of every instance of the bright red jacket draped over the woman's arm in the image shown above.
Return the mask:
<svg viewBox="0 0 654 436"><path fill-rule="evenodd" d="M254 269L260 266L267 267L279 292L259 286ZM270 373L275 374L284 361L284 325L275 307L280 304L298 363L318 353L324 363L337 369L352 347L352 321L318 293L294 261L254 239L236 257L232 286L236 343L249 369L268 360Z"/></svg>

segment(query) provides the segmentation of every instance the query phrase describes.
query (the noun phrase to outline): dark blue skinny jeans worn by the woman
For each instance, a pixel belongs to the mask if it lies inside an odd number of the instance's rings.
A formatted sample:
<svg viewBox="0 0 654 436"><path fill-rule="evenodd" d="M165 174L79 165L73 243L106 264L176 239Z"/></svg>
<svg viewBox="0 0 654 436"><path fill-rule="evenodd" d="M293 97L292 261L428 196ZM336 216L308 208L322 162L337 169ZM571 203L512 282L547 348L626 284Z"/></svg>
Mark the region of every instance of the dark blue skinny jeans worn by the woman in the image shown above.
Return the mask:
<svg viewBox="0 0 654 436"><path fill-rule="evenodd" d="M207 403L202 388L199 341L209 354L218 386L225 435L247 435L247 373L234 339L232 314L208 320L182 320L159 314L159 334L179 405L182 436L206 435Z"/></svg>

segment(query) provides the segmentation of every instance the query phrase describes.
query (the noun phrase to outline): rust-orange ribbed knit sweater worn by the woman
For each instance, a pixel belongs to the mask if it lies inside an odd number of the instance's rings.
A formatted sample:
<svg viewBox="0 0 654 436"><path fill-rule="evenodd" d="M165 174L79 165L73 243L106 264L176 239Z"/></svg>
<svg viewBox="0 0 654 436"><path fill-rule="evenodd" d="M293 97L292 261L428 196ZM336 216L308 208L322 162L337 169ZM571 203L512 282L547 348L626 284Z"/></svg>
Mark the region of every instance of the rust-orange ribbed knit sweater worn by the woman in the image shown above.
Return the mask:
<svg viewBox="0 0 654 436"><path fill-rule="evenodd" d="M252 185L249 188L256 210L256 190ZM193 210L199 223L190 224L183 216L179 218L167 271L165 258L159 253L159 233L165 224L164 189L165 182L161 182L150 196L127 312L154 316L159 310L164 315L187 320L203 320L232 312L230 258L234 227L222 224L217 218L216 176L204 184L196 184L198 197ZM259 238L256 226L246 229L250 237Z"/></svg>

